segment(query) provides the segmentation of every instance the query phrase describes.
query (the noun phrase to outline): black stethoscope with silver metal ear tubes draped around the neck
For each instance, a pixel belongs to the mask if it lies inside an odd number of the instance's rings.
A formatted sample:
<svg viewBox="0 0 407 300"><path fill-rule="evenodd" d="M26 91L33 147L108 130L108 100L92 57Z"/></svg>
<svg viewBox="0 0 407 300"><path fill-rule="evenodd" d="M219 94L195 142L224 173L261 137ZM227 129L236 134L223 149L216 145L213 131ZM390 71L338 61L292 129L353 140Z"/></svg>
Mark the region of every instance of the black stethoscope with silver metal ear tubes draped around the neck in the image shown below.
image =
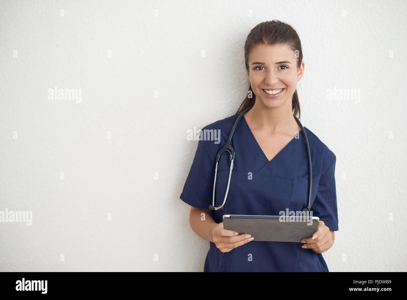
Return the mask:
<svg viewBox="0 0 407 300"><path fill-rule="evenodd" d="M223 145L223 147L221 148L221 150L219 150L217 156L216 156L216 168L215 168L215 179L213 182L213 198L212 198L212 205L209 205L209 209L210 210L220 210L223 208L223 205L225 205L226 202L226 197L228 196L228 191L229 191L229 185L230 185L230 176L232 176L232 169L233 169L233 160L234 160L234 149L232 147L232 144L230 143L230 141L232 140L232 135L233 132L237 126L237 124L239 123L240 119L243 117L243 115L253 106L250 106L248 108L246 108L245 110L243 110L243 112L239 115L239 117L236 119L236 121L233 124L232 130L230 131L230 135L228 140L225 142L225 144ZM302 127L302 124L300 122L300 120L298 120L297 117L295 117L295 115L293 114L295 121L297 121L298 125L300 125L301 127L301 131L302 134L305 137L305 143L306 143L306 148L308 151L308 169L309 169L309 182L308 182L308 205L306 207L304 207L302 209L303 212L308 211L308 214L310 213L311 210L311 192L312 192L312 165L311 165L311 152L309 150L309 143L308 143L308 138L306 136L304 127ZM229 171L229 180L228 180L228 187L226 188L226 194L225 194L225 199L223 199L223 203L221 206L219 207L215 207L215 186L216 186L216 174L218 172L218 162L219 159L221 158L221 154L223 151L228 151L229 155L230 155L230 171Z"/></svg>

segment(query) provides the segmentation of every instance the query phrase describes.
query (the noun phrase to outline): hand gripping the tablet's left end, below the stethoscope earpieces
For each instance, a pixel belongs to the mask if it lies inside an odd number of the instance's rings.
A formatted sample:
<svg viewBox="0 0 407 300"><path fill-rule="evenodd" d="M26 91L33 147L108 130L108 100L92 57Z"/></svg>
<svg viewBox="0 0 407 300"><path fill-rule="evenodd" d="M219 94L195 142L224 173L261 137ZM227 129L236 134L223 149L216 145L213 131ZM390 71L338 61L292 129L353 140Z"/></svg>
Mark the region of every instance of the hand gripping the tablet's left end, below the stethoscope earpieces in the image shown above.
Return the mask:
<svg viewBox="0 0 407 300"><path fill-rule="evenodd" d="M229 252L251 240L254 238L249 234L238 234L233 230L224 229L223 222L215 225L212 230L212 242L221 252Z"/></svg>

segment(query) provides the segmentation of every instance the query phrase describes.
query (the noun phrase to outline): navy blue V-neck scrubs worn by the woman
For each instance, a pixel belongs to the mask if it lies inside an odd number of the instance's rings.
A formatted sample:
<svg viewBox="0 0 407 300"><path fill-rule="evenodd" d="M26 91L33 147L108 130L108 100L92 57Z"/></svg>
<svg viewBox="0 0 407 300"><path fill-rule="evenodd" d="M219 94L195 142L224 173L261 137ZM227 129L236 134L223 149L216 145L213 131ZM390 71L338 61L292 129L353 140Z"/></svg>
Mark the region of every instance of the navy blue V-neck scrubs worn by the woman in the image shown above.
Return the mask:
<svg viewBox="0 0 407 300"><path fill-rule="evenodd" d="M201 130L195 158L180 196L182 201L202 209L208 209L209 205L212 205L216 154L228 139L238 116L236 114L214 122ZM336 231L336 156L308 128L304 129L312 159L311 210L313 216L318 216L330 230ZM220 130L220 143L204 140L204 130ZM208 135L206 137L208 138ZM308 154L301 131L297 137L299 139L293 138L269 161L245 118L241 118L232 137L232 146L236 153L228 197L223 209L212 211L212 218L216 223L222 222L224 214L279 215L281 210L288 208L289 211L301 211L307 205ZM225 151L218 165L215 198L217 207L223 203L229 170L229 154ZM210 242L204 271L328 272L322 254L317 254L312 249L304 249L302 245L294 242L252 240L229 252L221 252Z"/></svg>

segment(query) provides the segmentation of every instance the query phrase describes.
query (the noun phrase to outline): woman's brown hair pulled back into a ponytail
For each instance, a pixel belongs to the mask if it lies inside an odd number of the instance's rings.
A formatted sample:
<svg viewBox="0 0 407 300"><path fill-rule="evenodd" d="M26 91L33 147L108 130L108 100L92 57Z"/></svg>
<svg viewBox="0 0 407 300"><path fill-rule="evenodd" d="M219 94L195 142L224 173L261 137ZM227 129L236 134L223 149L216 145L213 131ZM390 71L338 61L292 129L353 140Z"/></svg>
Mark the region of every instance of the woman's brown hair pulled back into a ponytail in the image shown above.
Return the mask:
<svg viewBox="0 0 407 300"><path fill-rule="evenodd" d="M256 27L250 31L245 42L245 64L247 71L249 71L249 53L255 46L260 44L269 46L283 44L289 46L294 52L296 52L296 56L298 56L297 68L300 68L302 62L301 41L297 32L289 24L278 20L266 21L257 24ZM240 105L236 114L242 113L246 108L253 106L255 101L256 95L252 90L252 85L249 84L248 95L246 99L243 100L243 103ZM295 89L293 94L291 107L293 109L293 114L295 116L298 114L298 119L300 119L300 102L298 102L297 89Z"/></svg>

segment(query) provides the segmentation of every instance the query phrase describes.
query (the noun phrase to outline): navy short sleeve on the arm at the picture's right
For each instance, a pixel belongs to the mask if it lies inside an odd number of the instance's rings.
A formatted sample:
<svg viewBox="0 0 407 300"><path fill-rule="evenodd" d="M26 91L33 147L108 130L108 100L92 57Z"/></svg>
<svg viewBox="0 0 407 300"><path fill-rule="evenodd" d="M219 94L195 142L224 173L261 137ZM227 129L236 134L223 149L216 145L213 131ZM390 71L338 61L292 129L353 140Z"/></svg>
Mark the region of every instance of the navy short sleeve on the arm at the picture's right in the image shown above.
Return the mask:
<svg viewBox="0 0 407 300"><path fill-rule="evenodd" d="M318 216L320 221L324 221L330 231L338 230L338 210L336 201L335 186L335 163L336 156L328 169L320 176L317 196L311 210L313 216Z"/></svg>

